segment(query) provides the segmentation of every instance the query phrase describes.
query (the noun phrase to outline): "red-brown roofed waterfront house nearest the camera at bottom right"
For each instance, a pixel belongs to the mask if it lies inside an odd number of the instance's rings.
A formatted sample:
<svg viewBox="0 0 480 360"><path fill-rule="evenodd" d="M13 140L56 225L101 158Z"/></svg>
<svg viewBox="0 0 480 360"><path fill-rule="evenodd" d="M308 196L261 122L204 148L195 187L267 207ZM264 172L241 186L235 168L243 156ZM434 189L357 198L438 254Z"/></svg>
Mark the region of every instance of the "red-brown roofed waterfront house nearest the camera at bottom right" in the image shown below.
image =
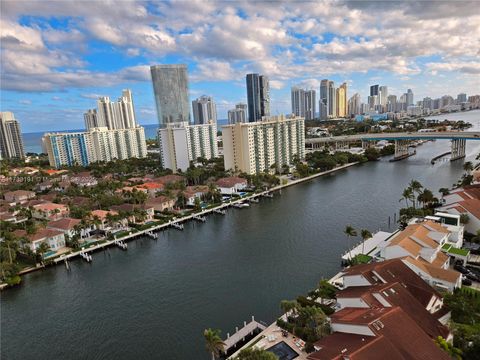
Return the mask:
<svg viewBox="0 0 480 360"><path fill-rule="evenodd" d="M330 319L334 333L314 343L309 360L450 359L399 306L346 308Z"/></svg>

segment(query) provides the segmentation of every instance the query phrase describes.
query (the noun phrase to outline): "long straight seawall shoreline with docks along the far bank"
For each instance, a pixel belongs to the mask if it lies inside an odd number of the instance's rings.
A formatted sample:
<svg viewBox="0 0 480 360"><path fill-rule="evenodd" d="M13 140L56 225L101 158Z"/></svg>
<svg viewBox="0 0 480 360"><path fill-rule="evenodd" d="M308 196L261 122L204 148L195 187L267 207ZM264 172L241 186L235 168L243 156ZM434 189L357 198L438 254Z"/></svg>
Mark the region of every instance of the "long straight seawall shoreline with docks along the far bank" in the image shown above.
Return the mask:
<svg viewBox="0 0 480 360"><path fill-rule="evenodd" d="M359 163L360 162L358 162L358 161L353 162L353 163L348 163L348 164L333 168L331 170L322 171L322 172L319 172L319 173L316 173L316 174L313 174L313 175L310 175L310 176L307 176L307 177L304 177L304 178L292 180L292 181L290 181L286 184L280 184L280 185L277 185L273 188L270 188L268 190L265 190L265 191L262 191L262 192L259 192L259 193L254 193L252 195L241 197L239 199L230 201L228 203L223 203L221 205L218 205L218 206L215 206L215 207L212 207L212 208L209 208L209 209L205 209L205 210L202 210L200 212L196 212L196 213L193 213L193 214L190 214L190 215L187 215L187 216L183 216L183 217L175 219L175 220L170 220L169 222L164 223L164 224L159 224L159 225L156 225L156 226L152 226L148 229L131 232L128 235L125 235L125 236L122 236L122 237L119 237L119 238L115 238L113 240L108 240L108 241L105 241L101 244L96 244L96 245L90 246L89 248L86 248L86 249L83 249L83 250L77 250L77 251L69 253L69 254L63 254L63 255L60 255L60 256L52 259L52 262L49 263L49 264L42 265L42 266L39 266L39 267L34 267L34 268L30 267L30 268L24 269L24 270L20 271L20 273L18 275L23 276L25 274L28 274L28 273L31 273L31 272L34 272L34 271L43 270L47 266L58 265L61 262L68 262L70 259L73 259L75 257L80 257L80 254L82 254L82 253L83 254L91 253L91 252L94 252L96 250L100 250L100 249L104 249L106 247L110 247L112 245L115 246L116 242L119 242L119 241L126 242L126 241L129 241L129 240L134 240L136 237L139 237L139 236L149 236L148 233L154 233L154 232L157 232L157 231L160 231L160 230L164 230L165 228L169 228L169 227L174 226L174 224L179 225L179 224L181 224L185 221L188 221L188 220L195 220L194 218L197 217L197 216L202 216L202 215L206 215L206 214L209 214L209 213L214 213L215 211L231 207L234 204L238 204L240 202L248 201L250 199L255 199L255 198L258 198L258 197L262 197L262 196L265 196L266 194L269 194L269 193L272 193L272 192L275 192L275 191L280 191L283 188L287 188L289 186L297 185L297 184L300 184L300 183L303 183L303 182L313 180L313 179L315 179L317 177L320 177L320 176L329 175L329 174L335 173L337 171L347 169L351 166L358 165ZM8 289L8 288L10 288L10 286L8 286L7 284L0 284L0 291L3 291L3 290Z"/></svg>

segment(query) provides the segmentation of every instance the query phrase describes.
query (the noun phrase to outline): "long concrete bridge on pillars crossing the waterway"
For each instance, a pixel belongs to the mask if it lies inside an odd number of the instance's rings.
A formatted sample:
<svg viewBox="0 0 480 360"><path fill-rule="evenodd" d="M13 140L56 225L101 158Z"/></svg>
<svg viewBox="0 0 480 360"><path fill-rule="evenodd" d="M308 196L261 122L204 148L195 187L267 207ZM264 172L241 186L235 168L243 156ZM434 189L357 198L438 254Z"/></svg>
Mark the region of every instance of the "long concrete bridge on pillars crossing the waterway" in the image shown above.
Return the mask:
<svg viewBox="0 0 480 360"><path fill-rule="evenodd" d="M403 132L403 133L376 133L357 134L345 136L333 136L323 138L305 139L305 147L310 149L324 148L327 144L335 144L336 150L348 149L352 142L362 142L362 147L368 148L374 141L395 141L395 160L404 159L411 154L408 148L413 140L451 140L452 155L450 160L458 160L465 157L467 140L480 140L479 131L442 131L442 132Z"/></svg>

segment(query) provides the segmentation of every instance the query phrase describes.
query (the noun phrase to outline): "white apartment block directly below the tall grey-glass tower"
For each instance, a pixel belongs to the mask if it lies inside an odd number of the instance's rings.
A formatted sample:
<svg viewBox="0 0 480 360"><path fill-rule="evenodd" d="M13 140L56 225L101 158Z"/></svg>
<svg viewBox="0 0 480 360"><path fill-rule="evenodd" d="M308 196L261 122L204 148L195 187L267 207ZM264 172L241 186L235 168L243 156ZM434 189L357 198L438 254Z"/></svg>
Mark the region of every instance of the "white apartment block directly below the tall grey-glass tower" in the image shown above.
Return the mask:
<svg viewBox="0 0 480 360"><path fill-rule="evenodd" d="M218 157L217 124L168 123L158 130L158 143L163 168L186 171L199 157Z"/></svg>

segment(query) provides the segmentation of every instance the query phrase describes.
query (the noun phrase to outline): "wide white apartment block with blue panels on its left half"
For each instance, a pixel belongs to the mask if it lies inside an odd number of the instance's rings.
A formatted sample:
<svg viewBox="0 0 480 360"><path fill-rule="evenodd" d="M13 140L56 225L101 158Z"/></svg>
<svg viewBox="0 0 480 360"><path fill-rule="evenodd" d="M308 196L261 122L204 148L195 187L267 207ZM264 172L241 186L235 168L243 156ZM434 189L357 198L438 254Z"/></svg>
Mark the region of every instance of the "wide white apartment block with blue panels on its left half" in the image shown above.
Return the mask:
<svg viewBox="0 0 480 360"><path fill-rule="evenodd" d="M50 165L56 168L147 156L145 131L141 126L114 130L96 127L76 133L46 133L42 143Z"/></svg>

